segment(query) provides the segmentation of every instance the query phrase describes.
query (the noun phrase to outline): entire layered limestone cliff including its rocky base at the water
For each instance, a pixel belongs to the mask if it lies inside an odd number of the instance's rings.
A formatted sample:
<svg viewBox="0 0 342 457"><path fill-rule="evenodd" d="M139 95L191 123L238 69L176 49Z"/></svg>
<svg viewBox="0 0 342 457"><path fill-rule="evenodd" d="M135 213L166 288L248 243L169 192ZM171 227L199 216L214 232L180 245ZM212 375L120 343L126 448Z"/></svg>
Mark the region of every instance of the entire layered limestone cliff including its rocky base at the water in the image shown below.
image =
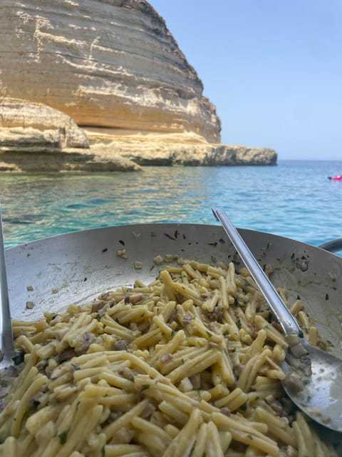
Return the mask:
<svg viewBox="0 0 342 457"><path fill-rule="evenodd" d="M230 164L202 92L145 0L1 1L0 169ZM276 163L248 151L234 164Z"/></svg>

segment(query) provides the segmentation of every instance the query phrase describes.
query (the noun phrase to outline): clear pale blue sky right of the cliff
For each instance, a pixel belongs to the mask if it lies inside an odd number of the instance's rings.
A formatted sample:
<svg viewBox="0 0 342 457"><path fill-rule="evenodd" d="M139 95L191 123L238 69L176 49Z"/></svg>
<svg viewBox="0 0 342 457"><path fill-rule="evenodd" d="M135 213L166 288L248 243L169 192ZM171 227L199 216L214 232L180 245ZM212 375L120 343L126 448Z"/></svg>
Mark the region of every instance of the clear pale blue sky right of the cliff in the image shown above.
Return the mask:
<svg viewBox="0 0 342 457"><path fill-rule="evenodd" d="M217 107L222 143L342 160L342 0L150 0Z"/></svg>

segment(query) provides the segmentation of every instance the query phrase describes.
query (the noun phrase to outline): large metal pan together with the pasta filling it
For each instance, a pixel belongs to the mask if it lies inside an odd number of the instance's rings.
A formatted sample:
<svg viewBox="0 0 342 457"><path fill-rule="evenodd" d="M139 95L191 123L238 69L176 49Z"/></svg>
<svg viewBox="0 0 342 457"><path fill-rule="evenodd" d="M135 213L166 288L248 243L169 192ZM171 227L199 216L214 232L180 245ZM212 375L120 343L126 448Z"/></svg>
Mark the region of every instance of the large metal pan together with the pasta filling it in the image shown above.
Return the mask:
<svg viewBox="0 0 342 457"><path fill-rule="evenodd" d="M240 233L306 338L341 356L342 258ZM286 397L287 343L221 226L67 233L6 264L0 456L342 455Z"/></svg>

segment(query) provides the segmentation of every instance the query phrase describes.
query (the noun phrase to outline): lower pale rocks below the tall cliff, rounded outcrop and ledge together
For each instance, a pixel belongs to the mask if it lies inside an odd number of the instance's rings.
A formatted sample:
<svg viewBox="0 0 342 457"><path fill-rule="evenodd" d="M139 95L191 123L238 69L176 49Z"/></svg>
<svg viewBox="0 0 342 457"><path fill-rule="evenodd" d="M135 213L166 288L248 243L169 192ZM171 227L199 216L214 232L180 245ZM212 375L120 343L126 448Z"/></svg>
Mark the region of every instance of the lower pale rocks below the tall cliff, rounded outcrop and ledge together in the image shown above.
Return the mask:
<svg viewBox="0 0 342 457"><path fill-rule="evenodd" d="M276 152L208 143L190 132L86 130L49 106L0 101L1 172L141 171L143 166L177 165L276 165Z"/></svg>

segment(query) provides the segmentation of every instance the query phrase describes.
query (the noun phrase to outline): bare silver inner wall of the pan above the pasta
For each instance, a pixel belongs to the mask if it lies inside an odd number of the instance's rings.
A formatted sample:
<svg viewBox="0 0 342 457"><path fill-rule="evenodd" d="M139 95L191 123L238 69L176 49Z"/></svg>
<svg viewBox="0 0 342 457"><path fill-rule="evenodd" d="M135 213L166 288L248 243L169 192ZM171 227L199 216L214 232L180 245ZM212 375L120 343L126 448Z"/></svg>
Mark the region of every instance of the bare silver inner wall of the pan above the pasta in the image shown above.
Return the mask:
<svg viewBox="0 0 342 457"><path fill-rule="evenodd" d="M288 289L290 300L301 297L321 335L341 355L342 258L289 238L239 231L261 265L273 266L274 284ZM174 262L177 257L212 264L239 261L222 227L214 225L114 226L43 238L6 250L11 314L31 320L47 309L61 311L131 286L137 278L149 283L165 264L156 264L155 256L169 254Z"/></svg>

